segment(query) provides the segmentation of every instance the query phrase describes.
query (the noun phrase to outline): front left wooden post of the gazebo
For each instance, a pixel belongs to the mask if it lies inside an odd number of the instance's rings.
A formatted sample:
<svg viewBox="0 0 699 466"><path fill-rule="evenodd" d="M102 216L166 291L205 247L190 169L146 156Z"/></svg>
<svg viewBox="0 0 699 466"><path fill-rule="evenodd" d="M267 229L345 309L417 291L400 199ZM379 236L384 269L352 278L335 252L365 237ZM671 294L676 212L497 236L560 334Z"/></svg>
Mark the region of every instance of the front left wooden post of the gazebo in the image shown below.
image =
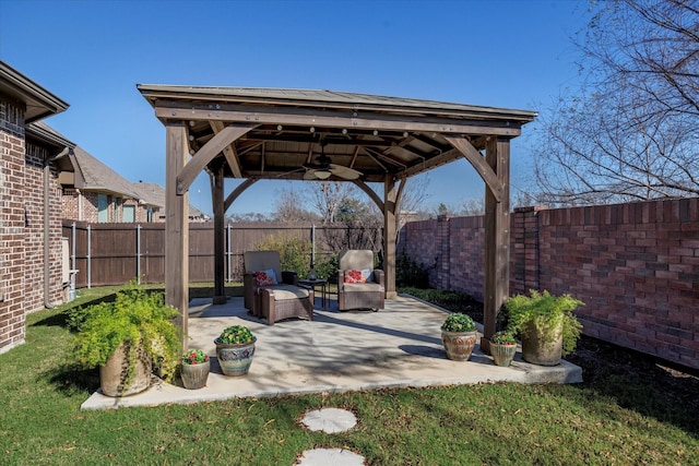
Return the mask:
<svg viewBox="0 0 699 466"><path fill-rule="evenodd" d="M177 193L178 174L189 156L187 128L181 121L166 123L165 166L165 302L179 310L182 348L188 347L189 311L189 191Z"/></svg>

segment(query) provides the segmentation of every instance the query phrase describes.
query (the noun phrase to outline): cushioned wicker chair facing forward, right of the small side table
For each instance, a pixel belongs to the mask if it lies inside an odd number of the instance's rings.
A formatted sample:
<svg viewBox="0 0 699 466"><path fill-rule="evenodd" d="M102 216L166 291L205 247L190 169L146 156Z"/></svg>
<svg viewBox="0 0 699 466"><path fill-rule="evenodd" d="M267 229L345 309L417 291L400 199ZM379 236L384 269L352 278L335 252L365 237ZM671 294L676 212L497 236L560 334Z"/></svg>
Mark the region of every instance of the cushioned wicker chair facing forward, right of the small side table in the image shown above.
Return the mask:
<svg viewBox="0 0 699 466"><path fill-rule="evenodd" d="M363 273L367 280L355 283L357 273ZM378 311L383 309L384 297L383 271L374 268L374 252L352 249L342 252L337 273L337 308L341 311L347 309Z"/></svg>

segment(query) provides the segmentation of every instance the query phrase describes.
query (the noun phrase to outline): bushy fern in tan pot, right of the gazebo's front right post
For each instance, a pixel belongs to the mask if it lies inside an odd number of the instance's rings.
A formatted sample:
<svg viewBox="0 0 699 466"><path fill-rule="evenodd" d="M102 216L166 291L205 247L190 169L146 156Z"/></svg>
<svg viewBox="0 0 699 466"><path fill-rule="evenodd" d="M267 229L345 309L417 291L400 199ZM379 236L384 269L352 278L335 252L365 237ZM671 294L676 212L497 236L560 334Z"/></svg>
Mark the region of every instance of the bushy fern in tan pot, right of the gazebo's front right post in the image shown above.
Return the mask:
<svg viewBox="0 0 699 466"><path fill-rule="evenodd" d="M530 290L505 304L508 330L522 338L522 358L540 366L556 366L576 349L582 325L572 311L584 303L570 295Z"/></svg>

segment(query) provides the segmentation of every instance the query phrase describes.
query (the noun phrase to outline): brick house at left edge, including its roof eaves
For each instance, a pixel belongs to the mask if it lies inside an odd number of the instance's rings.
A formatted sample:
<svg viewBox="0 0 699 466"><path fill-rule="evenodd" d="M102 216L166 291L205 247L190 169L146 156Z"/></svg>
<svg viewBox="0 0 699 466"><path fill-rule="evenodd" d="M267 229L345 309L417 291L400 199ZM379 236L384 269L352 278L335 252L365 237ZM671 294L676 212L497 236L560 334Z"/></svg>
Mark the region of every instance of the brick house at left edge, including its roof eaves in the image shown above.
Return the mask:
<svg viewBox="0 0 699 466"><path fill-rule="evenodd" d="M0 353L63 299L60 171L74 144L42 120L68 104L0 61Z"/></svg>

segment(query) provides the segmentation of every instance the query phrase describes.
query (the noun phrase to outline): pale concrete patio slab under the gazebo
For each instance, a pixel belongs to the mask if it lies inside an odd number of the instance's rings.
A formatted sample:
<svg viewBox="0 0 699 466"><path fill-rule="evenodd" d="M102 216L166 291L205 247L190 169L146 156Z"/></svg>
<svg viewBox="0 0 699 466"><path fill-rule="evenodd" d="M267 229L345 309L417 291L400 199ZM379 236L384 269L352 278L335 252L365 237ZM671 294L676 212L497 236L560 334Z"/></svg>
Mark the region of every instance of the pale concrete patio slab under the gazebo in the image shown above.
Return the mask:
<svg viewBox="0 0 699 466"><path fill-rule="evenodd" d="M94 393L82 409L198 403L236 397L301 395L380 387L420 387L491 382L577 383L578 366L556 367L524 362L518 355L510 368L495 366L476 345L466 362L447 359L440 325L446 311L410 296L387 300L379 312L339 312L330 299L322 309L316 300L313 321L292 319L273 326L247 314L242 298L213 306L194 299L189 307L190 348L212 358L205 387L187 390L156 383L123 398ZM229 325L244 324L257 336L256 355L246 377L223 375L214 338Z"/></svg>

